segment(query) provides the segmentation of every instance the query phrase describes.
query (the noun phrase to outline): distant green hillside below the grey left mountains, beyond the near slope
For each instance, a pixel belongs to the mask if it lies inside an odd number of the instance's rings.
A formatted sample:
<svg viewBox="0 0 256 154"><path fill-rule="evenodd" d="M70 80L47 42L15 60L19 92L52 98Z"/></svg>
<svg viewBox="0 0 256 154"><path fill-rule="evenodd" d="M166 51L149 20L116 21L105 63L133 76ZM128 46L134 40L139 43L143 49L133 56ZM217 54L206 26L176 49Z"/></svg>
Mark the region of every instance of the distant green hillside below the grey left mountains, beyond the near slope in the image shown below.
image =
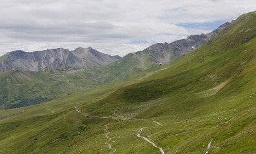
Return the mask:
<svg viewBox="0 0 256 154"><path fill-rule="evenodd" d="M141 58L139 56L129 54L124 56L123 60L113 62L106 67L72 70L74 73L66 73L64 69L0 73L0 87L5 87L0 89L0 110L26 107L61 98L67 94L111 83L153 67L153 65L141 67L138 63ZM144 62L148 62L148 59L145 58Z"/></svg>

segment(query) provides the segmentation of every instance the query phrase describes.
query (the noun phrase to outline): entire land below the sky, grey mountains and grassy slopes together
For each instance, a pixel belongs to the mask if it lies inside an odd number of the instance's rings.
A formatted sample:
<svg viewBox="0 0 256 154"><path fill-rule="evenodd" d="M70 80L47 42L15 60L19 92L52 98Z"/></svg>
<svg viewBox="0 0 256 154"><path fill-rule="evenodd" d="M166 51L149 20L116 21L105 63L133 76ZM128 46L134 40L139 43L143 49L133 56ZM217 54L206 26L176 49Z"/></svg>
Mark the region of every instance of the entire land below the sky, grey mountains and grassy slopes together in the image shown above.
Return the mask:
<svg viewBox="0 0 256 154"><path fill-rule="evenodd" d="M0 57L0 153L256 153L256 11L121 58Z"/></svg>

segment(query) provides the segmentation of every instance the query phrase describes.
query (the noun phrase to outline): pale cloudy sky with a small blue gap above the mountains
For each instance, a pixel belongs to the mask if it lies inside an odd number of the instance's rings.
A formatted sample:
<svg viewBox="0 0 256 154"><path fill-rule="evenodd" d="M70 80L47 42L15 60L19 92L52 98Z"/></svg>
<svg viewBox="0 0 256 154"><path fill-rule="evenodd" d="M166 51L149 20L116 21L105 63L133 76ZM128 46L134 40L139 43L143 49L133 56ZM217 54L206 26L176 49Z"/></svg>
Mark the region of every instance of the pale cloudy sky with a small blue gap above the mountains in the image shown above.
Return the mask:
<svg viewBox="0 0 256 154"><path fill-rule="evenodd" d="M255 8L255 0L0 0L0 56L80 46L124 56L208 33Z"/></svg>

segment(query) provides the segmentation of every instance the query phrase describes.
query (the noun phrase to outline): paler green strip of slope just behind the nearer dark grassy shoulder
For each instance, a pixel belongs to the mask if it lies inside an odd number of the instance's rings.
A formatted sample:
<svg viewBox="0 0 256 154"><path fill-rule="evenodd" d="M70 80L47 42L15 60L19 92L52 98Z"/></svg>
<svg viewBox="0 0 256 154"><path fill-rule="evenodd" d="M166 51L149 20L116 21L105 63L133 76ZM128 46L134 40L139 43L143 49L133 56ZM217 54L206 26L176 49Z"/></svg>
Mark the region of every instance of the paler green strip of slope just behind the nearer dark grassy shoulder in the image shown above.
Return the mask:
<svg viewBox="0 0 256 154"><path fill-rule="evenodd" d="M151 76L152 74L159 73L160 71L166 69L166 67L168 66L160 65L157 67L153 67L151 69L143 71L142 73L129 76L128 78L124 78L113 83L108 83L101 87L95 87L93 89L76 92L74 94L64 96L63 98L54 99L46 103L23 108L14 108L11 110L0 110L0 119L2 119L2 121L9 120L9 118L20 119L25 117L26 119L34 116L43 116L45 114L59 112L68 107L81 105L81 103L90 99L95 99L97 97L99 97L100 99L101 97L104 97L109 93L113 92L114 90L118 89L119 87L123 87L133 82L143 80L144 78Z"/></svg>

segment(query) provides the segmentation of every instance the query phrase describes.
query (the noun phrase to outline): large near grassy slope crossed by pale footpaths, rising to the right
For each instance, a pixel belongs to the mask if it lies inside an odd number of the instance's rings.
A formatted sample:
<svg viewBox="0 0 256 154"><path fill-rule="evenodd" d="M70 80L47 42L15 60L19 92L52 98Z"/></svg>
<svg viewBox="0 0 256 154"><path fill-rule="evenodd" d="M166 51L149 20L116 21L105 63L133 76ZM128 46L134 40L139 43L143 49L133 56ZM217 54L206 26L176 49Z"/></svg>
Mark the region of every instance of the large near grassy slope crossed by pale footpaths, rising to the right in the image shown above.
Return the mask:
<svg viewBox="0 0 256 154"><path fill-rule="evenodd" d="M209 153L255 153L255 23L255 12L242 15L152 76L148 71L41 105L1 111L0 150L110 153L104 132L109 123L115 153L160 153L136 136L141 126L141 135L166 153L204 153L211 139ZM126 85L135 78L143 81ZM75 106L89 115L130 119L91 119Z"/></svg>

